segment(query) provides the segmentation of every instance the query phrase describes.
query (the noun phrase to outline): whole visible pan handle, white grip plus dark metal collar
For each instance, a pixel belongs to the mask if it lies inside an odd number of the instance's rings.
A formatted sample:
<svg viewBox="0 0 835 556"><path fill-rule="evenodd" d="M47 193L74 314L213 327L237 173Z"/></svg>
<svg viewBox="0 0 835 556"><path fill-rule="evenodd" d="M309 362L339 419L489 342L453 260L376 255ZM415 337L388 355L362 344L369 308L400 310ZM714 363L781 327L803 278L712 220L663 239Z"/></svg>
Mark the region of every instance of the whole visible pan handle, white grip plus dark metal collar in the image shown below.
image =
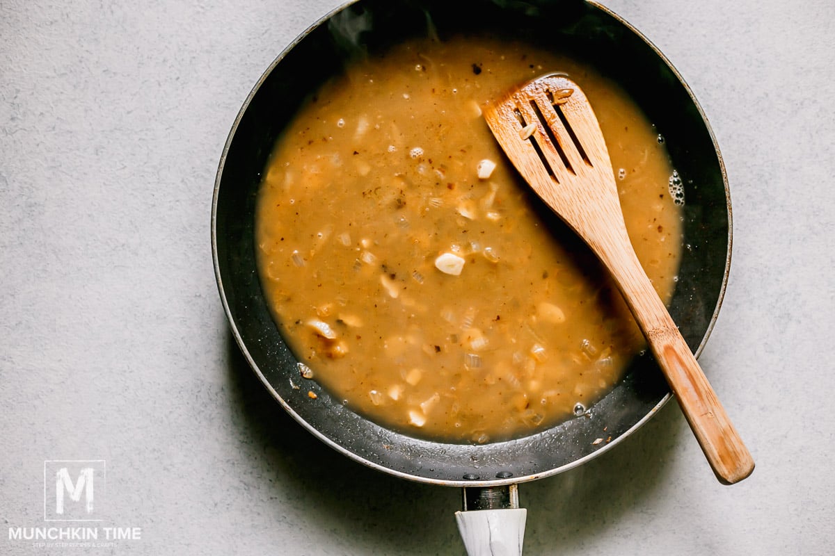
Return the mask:
<svg viewBox="0 0 835 556"><path fill-rule="evenodd" d="M463 511L455 513L468 556L522 556L527 517L515 484L464 487Z"/></svg>

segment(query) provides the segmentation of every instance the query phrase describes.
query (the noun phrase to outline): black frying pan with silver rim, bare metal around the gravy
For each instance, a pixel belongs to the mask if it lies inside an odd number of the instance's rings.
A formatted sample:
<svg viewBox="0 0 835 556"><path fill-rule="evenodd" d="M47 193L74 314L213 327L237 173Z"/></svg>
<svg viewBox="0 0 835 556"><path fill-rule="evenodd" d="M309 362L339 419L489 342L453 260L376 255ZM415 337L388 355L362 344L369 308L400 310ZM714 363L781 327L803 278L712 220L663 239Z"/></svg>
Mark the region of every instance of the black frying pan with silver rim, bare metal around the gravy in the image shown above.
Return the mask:
<svg viewBox="0 0 835 556"><path fill-rule="evenodd" d="M685 186L685 248L669 308L696 354L726 286L730 196L710 126L686 83L635 28L597 3L357 0L309 28L256 83L220 158L211 219L215 276L240 350L276 401L331 448L400 478L464 488L465 509L514 507L518 483L605 453L671 398L649 354L636 357L625 378L589 412L540 433L483 445L412 438L353 413L316 383L298 388L296 358L276 327L256 270L256 193L276 139L296 108L357 55L428 33L442 39L488 33L574 53L630 93L665 138ZM308 396L310 389L316 399ZM607 442L595 442L601 437Z"/></svg>

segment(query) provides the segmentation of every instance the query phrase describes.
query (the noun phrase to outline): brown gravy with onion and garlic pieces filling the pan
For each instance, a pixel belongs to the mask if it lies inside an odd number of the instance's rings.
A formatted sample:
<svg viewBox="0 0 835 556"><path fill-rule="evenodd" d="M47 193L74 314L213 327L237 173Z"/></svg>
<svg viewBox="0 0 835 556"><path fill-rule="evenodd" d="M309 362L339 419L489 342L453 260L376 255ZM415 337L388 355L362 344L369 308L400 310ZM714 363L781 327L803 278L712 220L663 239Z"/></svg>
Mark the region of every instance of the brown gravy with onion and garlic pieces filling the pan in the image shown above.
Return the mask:
<svg viewBox="0 0 835 556"><path fill-rule="evenodd" d="M621 378L644 347L629 310L479 109L549 71L590 98L630 238L670 298L683 199L620 88L522 44L405 43L326 83L266 168L261 283L301 376L382 426L457 443L553 426Z"/></svg>

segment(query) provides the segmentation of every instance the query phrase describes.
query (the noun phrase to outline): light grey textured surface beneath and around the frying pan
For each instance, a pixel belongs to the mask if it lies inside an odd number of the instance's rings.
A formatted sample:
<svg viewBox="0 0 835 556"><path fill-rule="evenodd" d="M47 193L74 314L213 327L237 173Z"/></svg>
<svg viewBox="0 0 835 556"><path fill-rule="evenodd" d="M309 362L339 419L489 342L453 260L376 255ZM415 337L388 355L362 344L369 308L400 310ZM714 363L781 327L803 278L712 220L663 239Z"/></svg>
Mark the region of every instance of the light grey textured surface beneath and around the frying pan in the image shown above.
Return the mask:
<svg viewBox="0 0 835 556"><path fill-rule="evenodd" d="M269 63L337 0L0 0L0 553L462 554L458 491L287 418L230 340L215 170ZM757 460L716 483L675 403L521 487L525 553L829 554L835 3L609 0L700 99L734 203L701 363ZM112 548L33 548L43 461L105 459Z"/></svg>

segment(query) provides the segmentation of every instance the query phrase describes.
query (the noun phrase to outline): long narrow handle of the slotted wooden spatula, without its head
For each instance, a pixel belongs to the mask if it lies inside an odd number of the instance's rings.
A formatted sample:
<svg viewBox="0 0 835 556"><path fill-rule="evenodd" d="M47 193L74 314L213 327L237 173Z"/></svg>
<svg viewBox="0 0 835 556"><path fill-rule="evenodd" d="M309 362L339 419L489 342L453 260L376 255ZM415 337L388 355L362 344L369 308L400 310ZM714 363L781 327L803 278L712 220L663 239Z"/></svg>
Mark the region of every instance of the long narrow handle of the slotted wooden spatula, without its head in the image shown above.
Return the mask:
<svg viewBox="0 0 835 556"><path fill-rule="evenodd" d="M696 356L655 292L631 245L613 249L610 253L615 253L617 258L607 262L615 282L644 332L667 383L676 394L681 411L716 478L725 484L741 481L754 470L754 460L707 381Z"/></svg>

